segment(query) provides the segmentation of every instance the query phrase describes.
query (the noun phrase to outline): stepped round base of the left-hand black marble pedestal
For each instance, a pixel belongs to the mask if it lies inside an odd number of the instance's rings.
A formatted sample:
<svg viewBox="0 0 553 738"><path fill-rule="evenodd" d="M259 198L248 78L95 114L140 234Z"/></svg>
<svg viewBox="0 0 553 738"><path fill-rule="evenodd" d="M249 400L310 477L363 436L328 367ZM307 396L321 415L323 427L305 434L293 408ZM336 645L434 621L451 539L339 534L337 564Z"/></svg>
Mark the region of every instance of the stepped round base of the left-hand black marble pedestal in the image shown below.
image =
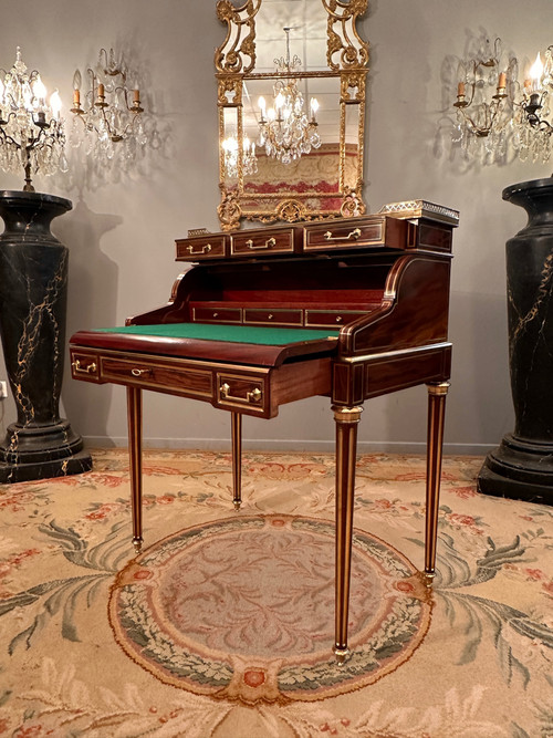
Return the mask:
<svg viewBox="0 0 553 738"><path fill-rule="evenodd" d="M0 445L0 484L64 477L92 469L92 458L69 420L22 426L13 423Z"/></svg>

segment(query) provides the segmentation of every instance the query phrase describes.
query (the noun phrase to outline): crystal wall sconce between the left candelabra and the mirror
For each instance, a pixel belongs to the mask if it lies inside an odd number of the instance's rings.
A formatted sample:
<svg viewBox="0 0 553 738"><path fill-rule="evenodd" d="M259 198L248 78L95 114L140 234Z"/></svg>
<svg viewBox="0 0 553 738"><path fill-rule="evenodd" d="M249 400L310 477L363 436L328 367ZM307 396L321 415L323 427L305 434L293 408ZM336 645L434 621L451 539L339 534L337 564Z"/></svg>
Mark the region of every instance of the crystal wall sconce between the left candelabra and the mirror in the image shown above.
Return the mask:
<svg viewBox="0 0 553 738"><path fill-rule="evenodd" d="M81 73L73 77L72 145L83 147L86 155L113 160L118 155L133 162L137 149L147 142L144 131L140 92L127 87L127 69L123 59L100 50L95 69L87 70L88 89L81 101ZM80 125L83 125L81 129Z"/></svg>

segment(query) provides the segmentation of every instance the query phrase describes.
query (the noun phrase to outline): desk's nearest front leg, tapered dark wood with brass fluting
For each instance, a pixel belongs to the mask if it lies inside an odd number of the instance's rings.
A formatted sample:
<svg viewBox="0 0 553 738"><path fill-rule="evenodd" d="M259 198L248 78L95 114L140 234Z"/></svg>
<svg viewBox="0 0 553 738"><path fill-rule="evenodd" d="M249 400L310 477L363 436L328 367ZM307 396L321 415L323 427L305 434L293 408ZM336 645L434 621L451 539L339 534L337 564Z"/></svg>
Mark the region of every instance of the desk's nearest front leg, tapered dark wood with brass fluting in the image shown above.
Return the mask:
<svg viewBox="0 0 553 738"><path fill-rule="evenodd" d="M334 653L345 662L352 570L353 503L357 425L362 407L333 407L336 422L336 604Z"/></svg>

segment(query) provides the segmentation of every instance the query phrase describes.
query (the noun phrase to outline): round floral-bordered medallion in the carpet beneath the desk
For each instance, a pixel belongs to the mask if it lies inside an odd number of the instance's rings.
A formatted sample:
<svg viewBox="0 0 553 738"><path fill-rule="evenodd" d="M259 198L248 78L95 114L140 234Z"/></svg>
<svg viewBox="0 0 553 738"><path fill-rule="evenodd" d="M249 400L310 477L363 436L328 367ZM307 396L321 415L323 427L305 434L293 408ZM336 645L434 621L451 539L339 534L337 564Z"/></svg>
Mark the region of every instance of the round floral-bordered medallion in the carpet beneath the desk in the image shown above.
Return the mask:
<svg viewBox="0 0 553 738"><path fill-rule="evenodd" d="M430 622L415 567L354 530L348 661L334 644L334 523L236 517L179 531L117 575L117 642L161 682L240 700L313 700L375 682L407 661Z"/></svg>

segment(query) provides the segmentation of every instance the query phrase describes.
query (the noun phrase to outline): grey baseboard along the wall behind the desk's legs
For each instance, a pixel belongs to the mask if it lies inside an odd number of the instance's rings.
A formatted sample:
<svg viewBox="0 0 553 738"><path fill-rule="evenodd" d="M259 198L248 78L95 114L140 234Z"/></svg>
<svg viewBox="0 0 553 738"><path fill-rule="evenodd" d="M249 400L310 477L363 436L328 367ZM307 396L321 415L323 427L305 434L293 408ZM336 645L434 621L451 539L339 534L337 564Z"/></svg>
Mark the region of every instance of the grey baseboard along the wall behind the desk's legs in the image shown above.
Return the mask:
<svg viewBox="0 0 553 738"><path fill-rule="evenodd" d="M127 438L107 436L85 436L88 448L124 448ZM230 438L144 438L144 448L168 448L191 450L230 450ZM448 456L486 456L497 444L444 444L444 454ZM282 438L243 438L244 450L258 451L300 451L311 454L332 454L334 440L304 440ZM359 454L426 454L425 443L413 441L373 441L359 440Z"/></svg>

